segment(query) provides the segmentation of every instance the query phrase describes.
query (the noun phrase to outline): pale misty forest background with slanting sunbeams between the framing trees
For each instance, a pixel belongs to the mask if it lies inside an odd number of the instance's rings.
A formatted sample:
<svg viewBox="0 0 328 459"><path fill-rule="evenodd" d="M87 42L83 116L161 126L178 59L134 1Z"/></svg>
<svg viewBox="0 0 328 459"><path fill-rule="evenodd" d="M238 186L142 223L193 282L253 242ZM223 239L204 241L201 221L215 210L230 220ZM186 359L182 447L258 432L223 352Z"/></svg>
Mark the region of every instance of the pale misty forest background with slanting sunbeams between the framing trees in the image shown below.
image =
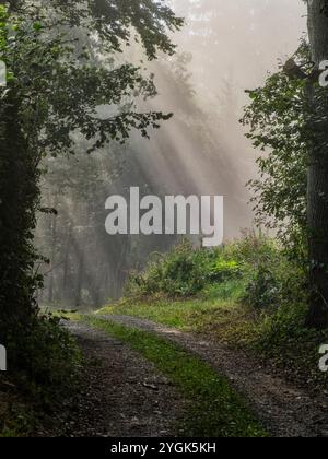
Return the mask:
<svg viewBox="0 0 328 459"><path fill-rule="evenodd" d="M261 85L280 61L297 48L306 30L300 0L174 0L186 17L173 57L142 62L154 74L157 95L144 109L173 113L150 139L131 137L92 155L79 136L77 154L46 158L43 207L36 243L45 260L43 305L97 308L118 298L131 270L143 268L154 251L165 251L172 236L108 236L105 201L128 198L130 187L144 195L223 195L225 239L253 226L245 184L256 175L256 153L239 119L245 90ZM140 62L136 44L127 49ZM126 55L126 56L127 56ZM101 107L104 115L113 107ZM197 242L196 242L197 243ZM45 262L46 259L49 262Z"/></svg>

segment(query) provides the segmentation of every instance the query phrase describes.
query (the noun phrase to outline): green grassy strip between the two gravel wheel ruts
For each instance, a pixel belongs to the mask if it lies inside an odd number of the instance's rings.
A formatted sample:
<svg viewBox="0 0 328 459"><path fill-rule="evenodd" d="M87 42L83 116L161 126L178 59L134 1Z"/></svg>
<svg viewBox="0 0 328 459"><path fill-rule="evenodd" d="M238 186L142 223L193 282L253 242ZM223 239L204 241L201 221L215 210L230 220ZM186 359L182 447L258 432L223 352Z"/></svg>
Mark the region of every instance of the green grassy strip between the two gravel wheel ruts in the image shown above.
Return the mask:
<svg viewBox="0 0 328 459"><path fill-rule="evenodd" d="M261 423L225 377L180 346L154 333L81 316L95 327L127 343L152 362L189 401L185 434L192 437L266 437Z"/></svg>

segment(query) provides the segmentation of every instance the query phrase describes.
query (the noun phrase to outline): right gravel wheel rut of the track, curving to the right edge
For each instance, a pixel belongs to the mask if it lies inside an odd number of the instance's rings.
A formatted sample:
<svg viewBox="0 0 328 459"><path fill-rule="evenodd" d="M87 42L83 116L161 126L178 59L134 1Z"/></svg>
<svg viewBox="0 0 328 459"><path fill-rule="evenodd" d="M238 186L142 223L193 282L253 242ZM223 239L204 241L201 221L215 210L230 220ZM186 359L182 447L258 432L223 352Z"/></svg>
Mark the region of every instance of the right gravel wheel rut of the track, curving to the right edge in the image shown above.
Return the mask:
<svg viewBox="0 0 328 459"><path fill-rule="evenodd" d="M314 399L279 375L272 375L269 369L260 366L245 353L204 340L203 337L136 317L110 315L98 316L98 318L154 332L200 356L221 375L229 378L254 407L272 436L328 437L327 396L323 395L323 398ZM136 370L139 369L136 368Z"/></svg>

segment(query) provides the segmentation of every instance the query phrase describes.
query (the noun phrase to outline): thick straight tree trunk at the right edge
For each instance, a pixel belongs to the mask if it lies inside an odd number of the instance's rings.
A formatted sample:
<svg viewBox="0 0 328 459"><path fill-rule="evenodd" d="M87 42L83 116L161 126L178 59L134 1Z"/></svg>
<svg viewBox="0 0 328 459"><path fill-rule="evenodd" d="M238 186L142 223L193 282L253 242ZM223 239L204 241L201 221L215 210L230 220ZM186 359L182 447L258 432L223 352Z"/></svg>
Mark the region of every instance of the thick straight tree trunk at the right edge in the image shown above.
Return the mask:
<svg viewBox="0 0 328 459"><path fill-rule="evenodd" d="M328 0L308 0L311 51L317 67L328 59L328 8L325 7ZM313 90L313 108L307 195L312 292L307 326L324 329L328 326L328 104L327 99L323 101L323 90ZM314 122L318 117L320 122Z"/></svg>

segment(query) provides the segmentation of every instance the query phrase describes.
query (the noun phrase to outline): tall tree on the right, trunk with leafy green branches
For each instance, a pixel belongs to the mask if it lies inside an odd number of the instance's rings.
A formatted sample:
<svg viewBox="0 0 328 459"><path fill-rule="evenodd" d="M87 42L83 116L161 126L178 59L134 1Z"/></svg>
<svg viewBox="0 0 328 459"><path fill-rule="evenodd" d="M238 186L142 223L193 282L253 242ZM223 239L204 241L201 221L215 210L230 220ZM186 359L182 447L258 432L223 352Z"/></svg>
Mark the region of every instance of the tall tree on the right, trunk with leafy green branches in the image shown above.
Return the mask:
<svg viewBox="0 0 328 459"><path fill-rule="evenodd" d="M319 85L328 59L328 1L308 0L309 44L304 42L281 72L250 92L246 110L254 145L265 150L261 177L253 183L258 215L283 222L288 242L308 258L306 325L328 326L328 92ZM306 246L305 249L303 247ZM300 250L301 248L301 250ZM306 255L305 255L306 252Z"/></svg>

